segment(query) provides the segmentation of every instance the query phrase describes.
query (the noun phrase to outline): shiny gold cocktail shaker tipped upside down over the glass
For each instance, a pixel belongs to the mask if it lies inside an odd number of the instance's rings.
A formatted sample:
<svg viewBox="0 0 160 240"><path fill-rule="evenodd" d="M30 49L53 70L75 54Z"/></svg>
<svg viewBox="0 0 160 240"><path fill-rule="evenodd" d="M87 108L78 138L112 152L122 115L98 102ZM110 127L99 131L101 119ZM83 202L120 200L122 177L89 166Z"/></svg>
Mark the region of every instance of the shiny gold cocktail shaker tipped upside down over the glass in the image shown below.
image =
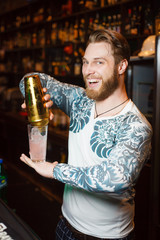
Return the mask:
<svg viewBox="0 0 160 240"><path fill-rule="evenodd" d="M49 123L49 111L44 106L44 93L38 75L24 78L25 102L28 112L28 121L33 126L43 127Z"/></svg>

